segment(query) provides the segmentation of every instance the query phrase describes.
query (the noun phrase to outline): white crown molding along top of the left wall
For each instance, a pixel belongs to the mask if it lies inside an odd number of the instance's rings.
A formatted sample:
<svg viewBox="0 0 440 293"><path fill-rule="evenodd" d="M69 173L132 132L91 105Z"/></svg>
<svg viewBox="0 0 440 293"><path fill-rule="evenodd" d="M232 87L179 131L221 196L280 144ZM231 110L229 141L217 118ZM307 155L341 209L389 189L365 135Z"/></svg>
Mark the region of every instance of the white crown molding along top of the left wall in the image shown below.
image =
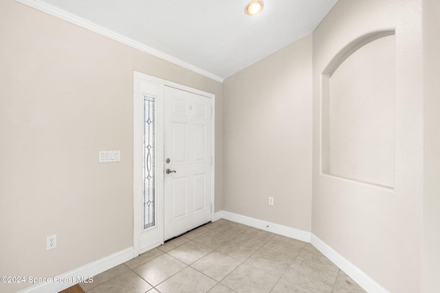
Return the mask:
<svg viewBox="0 0 440 293"><path fill-rule="evenodd" d="M71 14L69 12L65 12L64 10L56 8L56 7L49 5L47 3L41 2L39 0L15 0L15 1L20 2L24 5L28 5L32 8L35 8L36 10L40 10L40 11L45 12L47 14L50 14L52 16L58 17L58 19L63 19L64 21L68 21L69 23L73 23L74 25L78 25L80 27L83 27L86 30L89 30L91 32L96 32L96 34L100 34L101 36L106 36L107 38L111 38L112 40L116 40L119 43L122 43L124 45L129 46L129 47L133 47L133 48L138 49L140 51L143 51L145 53L151 54L157 58L161 58L162 60L166 60L168 62L175 64L175 65L179 65L180 67L184 67L185 69L188 69L190 71L194 71L195 73L199 73L200 75L206 76L207 78L210 78L210 79L215 80L217 82L223 82L223 80L224 80L224 78L221 78L218 75L210 73L206 70L203 70L199 67L191 65L188 62L182 61L182 60L177 59L177 58L170 56L168 54L164 54L161 51L158 51L156 49L153 49L151 47L143 45L135 40L132 40L131 38L126 38L125 36L122 36L122 35L115 33L111 30L107 30L106 28L101 27L100 25L96 25L96 23L91 23L90 21L86 21L85 19L82 19L79 16L76 16L76 15Z"/></svg>

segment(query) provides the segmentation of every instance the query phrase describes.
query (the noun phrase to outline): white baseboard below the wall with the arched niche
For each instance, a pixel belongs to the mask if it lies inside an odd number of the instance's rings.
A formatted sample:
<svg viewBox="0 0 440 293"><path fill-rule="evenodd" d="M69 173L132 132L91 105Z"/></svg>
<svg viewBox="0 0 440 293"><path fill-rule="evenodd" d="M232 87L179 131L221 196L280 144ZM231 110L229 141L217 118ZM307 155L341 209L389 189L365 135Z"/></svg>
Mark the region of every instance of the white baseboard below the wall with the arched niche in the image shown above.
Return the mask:
<svg viewBox="0 0 440 293"><path fill-rule="evenodd" d="M388 290L376 283L371 277L362 272L357 266L342 257L333 248L328 246L321 239L311 234L311 245L315 246L323 255L333 261L342 271L344 271L353 281L358 283L366 292L369 293L389 293Z"/></svg>

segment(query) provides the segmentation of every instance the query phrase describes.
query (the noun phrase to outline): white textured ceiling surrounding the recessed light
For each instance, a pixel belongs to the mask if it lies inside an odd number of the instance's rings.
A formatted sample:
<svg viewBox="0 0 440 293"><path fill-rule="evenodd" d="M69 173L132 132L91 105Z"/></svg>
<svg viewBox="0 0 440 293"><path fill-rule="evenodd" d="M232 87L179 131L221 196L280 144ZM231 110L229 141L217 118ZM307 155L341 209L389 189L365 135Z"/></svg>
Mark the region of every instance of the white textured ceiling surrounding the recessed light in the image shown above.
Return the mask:
<svg viewBox="0 0 440 293"><path fill-rule="evenodd" d="M248 0L39 2L223 80L312 32L336 1L264 0L252 17L244 12Z"/></svg>

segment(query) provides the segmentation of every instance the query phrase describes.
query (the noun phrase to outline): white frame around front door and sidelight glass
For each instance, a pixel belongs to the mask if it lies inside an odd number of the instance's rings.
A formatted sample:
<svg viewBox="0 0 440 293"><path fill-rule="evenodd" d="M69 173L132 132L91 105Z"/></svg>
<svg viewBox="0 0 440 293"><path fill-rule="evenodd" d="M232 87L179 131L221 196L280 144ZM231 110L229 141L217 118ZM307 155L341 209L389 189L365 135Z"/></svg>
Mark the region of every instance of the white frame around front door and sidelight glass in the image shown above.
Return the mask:
<svg viewBox="0 0 440 293"><path fill-rule="evenodd" d="M155 226L162 233L159 233L159 239L146 249L140 248L140 233L142 231L142 198L143 198L143 99L144 93L142 91L143 84L150 84L155 86L159 91L159 95L155 96ZM182 91L188 91L197 95L203 95L211 99L212 107L212 164L211 164L211 219L214 217L214 186L215 186L215 95L192 89L188 86L155 78L151 75L146 75L134 71L134 85L133 85L133 257L137 257L140 253L144 253L160 244L164 243L164 86L170 86Z"/></svg>

